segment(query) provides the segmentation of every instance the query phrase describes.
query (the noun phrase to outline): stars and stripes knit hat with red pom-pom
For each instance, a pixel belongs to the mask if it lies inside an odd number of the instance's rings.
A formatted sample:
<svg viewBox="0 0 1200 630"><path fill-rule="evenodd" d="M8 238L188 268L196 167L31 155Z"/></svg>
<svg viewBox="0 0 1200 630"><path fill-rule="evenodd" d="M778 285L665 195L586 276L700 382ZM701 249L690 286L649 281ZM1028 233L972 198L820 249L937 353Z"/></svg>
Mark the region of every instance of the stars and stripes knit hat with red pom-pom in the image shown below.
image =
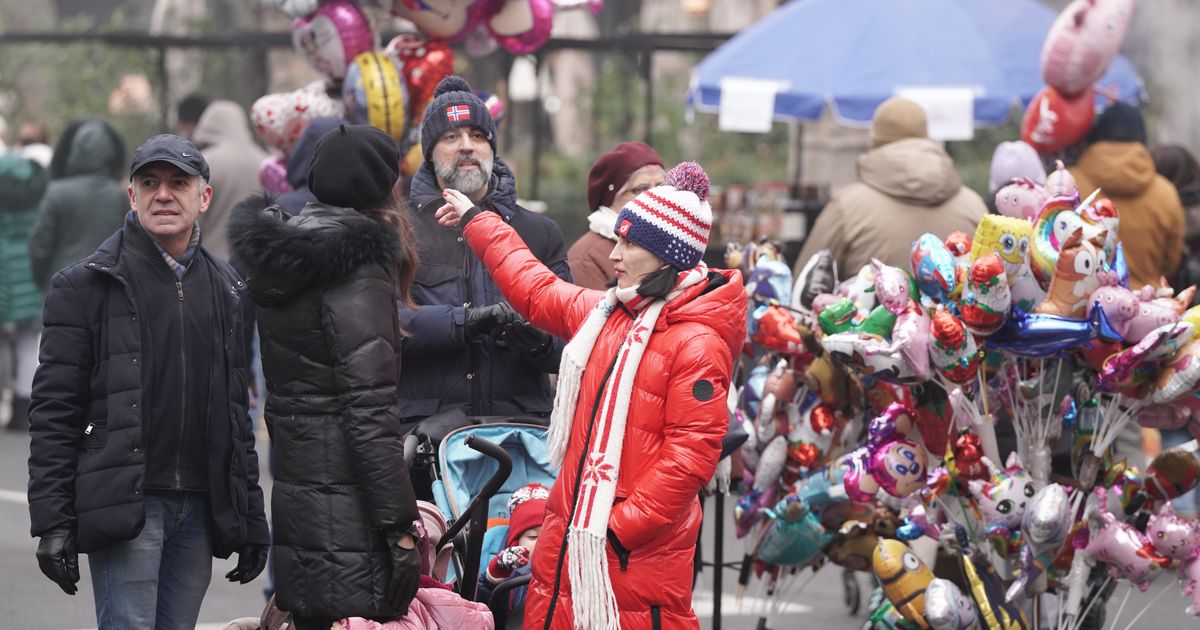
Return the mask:
<svg viewBox="0 0 1200 630"><path fill-rule="evenodd" d="M614 232L649 250L671 266L686 271L708 247L713 208L708 204L708 175L696 162L682 162L655 186L620 209Z"/></svg>

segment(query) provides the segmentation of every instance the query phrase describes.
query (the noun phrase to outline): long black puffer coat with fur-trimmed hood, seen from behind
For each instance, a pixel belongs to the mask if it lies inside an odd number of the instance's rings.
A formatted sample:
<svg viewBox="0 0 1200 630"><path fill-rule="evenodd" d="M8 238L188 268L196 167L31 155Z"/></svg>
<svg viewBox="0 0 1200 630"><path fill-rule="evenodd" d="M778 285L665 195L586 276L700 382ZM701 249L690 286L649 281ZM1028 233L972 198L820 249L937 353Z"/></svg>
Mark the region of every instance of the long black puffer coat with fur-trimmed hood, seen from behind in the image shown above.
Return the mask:
<svg viewBox="0 0 1200 630"><path fill-rule="evenodd" d="M400 239L352 209L288 218L257 196L234 209L229 236L258 305L280 608L395 617L384 532L419 517L396 414Z"/></svg>

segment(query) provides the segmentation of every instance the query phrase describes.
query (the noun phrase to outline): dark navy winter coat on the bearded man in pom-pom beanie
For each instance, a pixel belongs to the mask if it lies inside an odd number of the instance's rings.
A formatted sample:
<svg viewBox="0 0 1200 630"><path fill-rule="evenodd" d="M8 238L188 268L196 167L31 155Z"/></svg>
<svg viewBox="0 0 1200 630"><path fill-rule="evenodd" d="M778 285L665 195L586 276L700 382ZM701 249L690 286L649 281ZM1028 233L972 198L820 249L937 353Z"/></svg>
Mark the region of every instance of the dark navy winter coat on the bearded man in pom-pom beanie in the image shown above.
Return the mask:
<svg viewBox="0 0 1200 630"><path fill-rule="evenodd" d="M529 359L498 346L491 336L476 343L463 338L464 307L505 299L462 234L433 217L443 203L433 167L426 162L409 194L409 221L421 257L413 300L420 307L401 307L400 313L410 334L403 343L404 356L420 368L407 370L401 378L400 415L412 421L463 409L467 415L546 416L554 402L547 374L558 371L563 342L556 340L551 352ZM539 260L570 282L562 230L550 218L517 205L512 170L499 158L479 208L504 217Z"/></svg>

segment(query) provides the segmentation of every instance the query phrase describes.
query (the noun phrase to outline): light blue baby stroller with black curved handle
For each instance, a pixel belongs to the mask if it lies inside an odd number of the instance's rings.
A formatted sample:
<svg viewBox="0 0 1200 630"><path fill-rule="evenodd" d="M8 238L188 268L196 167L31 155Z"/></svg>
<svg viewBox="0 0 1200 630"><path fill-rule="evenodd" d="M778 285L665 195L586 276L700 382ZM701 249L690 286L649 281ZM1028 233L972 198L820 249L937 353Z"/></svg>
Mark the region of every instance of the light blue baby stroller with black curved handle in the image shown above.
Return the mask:
<svg viewBox="0 0 1200 630"><path fill-rule="evenodd" d="M508 502L527 484L551 486L546 427L541 420L463 416L434 446L434 436L415 434L406 440L406 458L428 467L433 498L450 528L438 542L454 545L451 575L458 593L474 599L480 568L502 551L508 533ZM490 607L497 612L500 598L528 582L514 577L497 586ZM497 628L503 628L497 618Z"/></svg>

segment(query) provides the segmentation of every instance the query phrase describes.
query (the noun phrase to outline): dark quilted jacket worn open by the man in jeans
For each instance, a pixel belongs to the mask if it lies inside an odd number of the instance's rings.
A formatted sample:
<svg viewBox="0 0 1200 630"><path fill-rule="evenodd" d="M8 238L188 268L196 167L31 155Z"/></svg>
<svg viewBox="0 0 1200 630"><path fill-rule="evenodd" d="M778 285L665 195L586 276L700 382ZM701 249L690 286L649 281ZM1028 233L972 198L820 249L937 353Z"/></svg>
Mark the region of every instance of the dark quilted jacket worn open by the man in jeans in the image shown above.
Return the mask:
<svg viewBox="0 0 1200 630"><path fill-rule="evenodd" d="M29 511L31 533L74 524L79 551L131 540L145 522L146 431L155 419L152 366L146 344L150 317L138 305L138 278L158 270L158 258L130 251L148 236L132 220L90 257L50 281L44 331L29 409ZM247 367L240 301L245 286L228 264L200 250L194 265L210 278L214 340L204 470L214 556L228 558L246 544L270 544L258 456L247 413ZM175 308L175 304L166 307ZM155 346L155 349L162 350ZM182 383L157 383L179 391Z"/></svg>

